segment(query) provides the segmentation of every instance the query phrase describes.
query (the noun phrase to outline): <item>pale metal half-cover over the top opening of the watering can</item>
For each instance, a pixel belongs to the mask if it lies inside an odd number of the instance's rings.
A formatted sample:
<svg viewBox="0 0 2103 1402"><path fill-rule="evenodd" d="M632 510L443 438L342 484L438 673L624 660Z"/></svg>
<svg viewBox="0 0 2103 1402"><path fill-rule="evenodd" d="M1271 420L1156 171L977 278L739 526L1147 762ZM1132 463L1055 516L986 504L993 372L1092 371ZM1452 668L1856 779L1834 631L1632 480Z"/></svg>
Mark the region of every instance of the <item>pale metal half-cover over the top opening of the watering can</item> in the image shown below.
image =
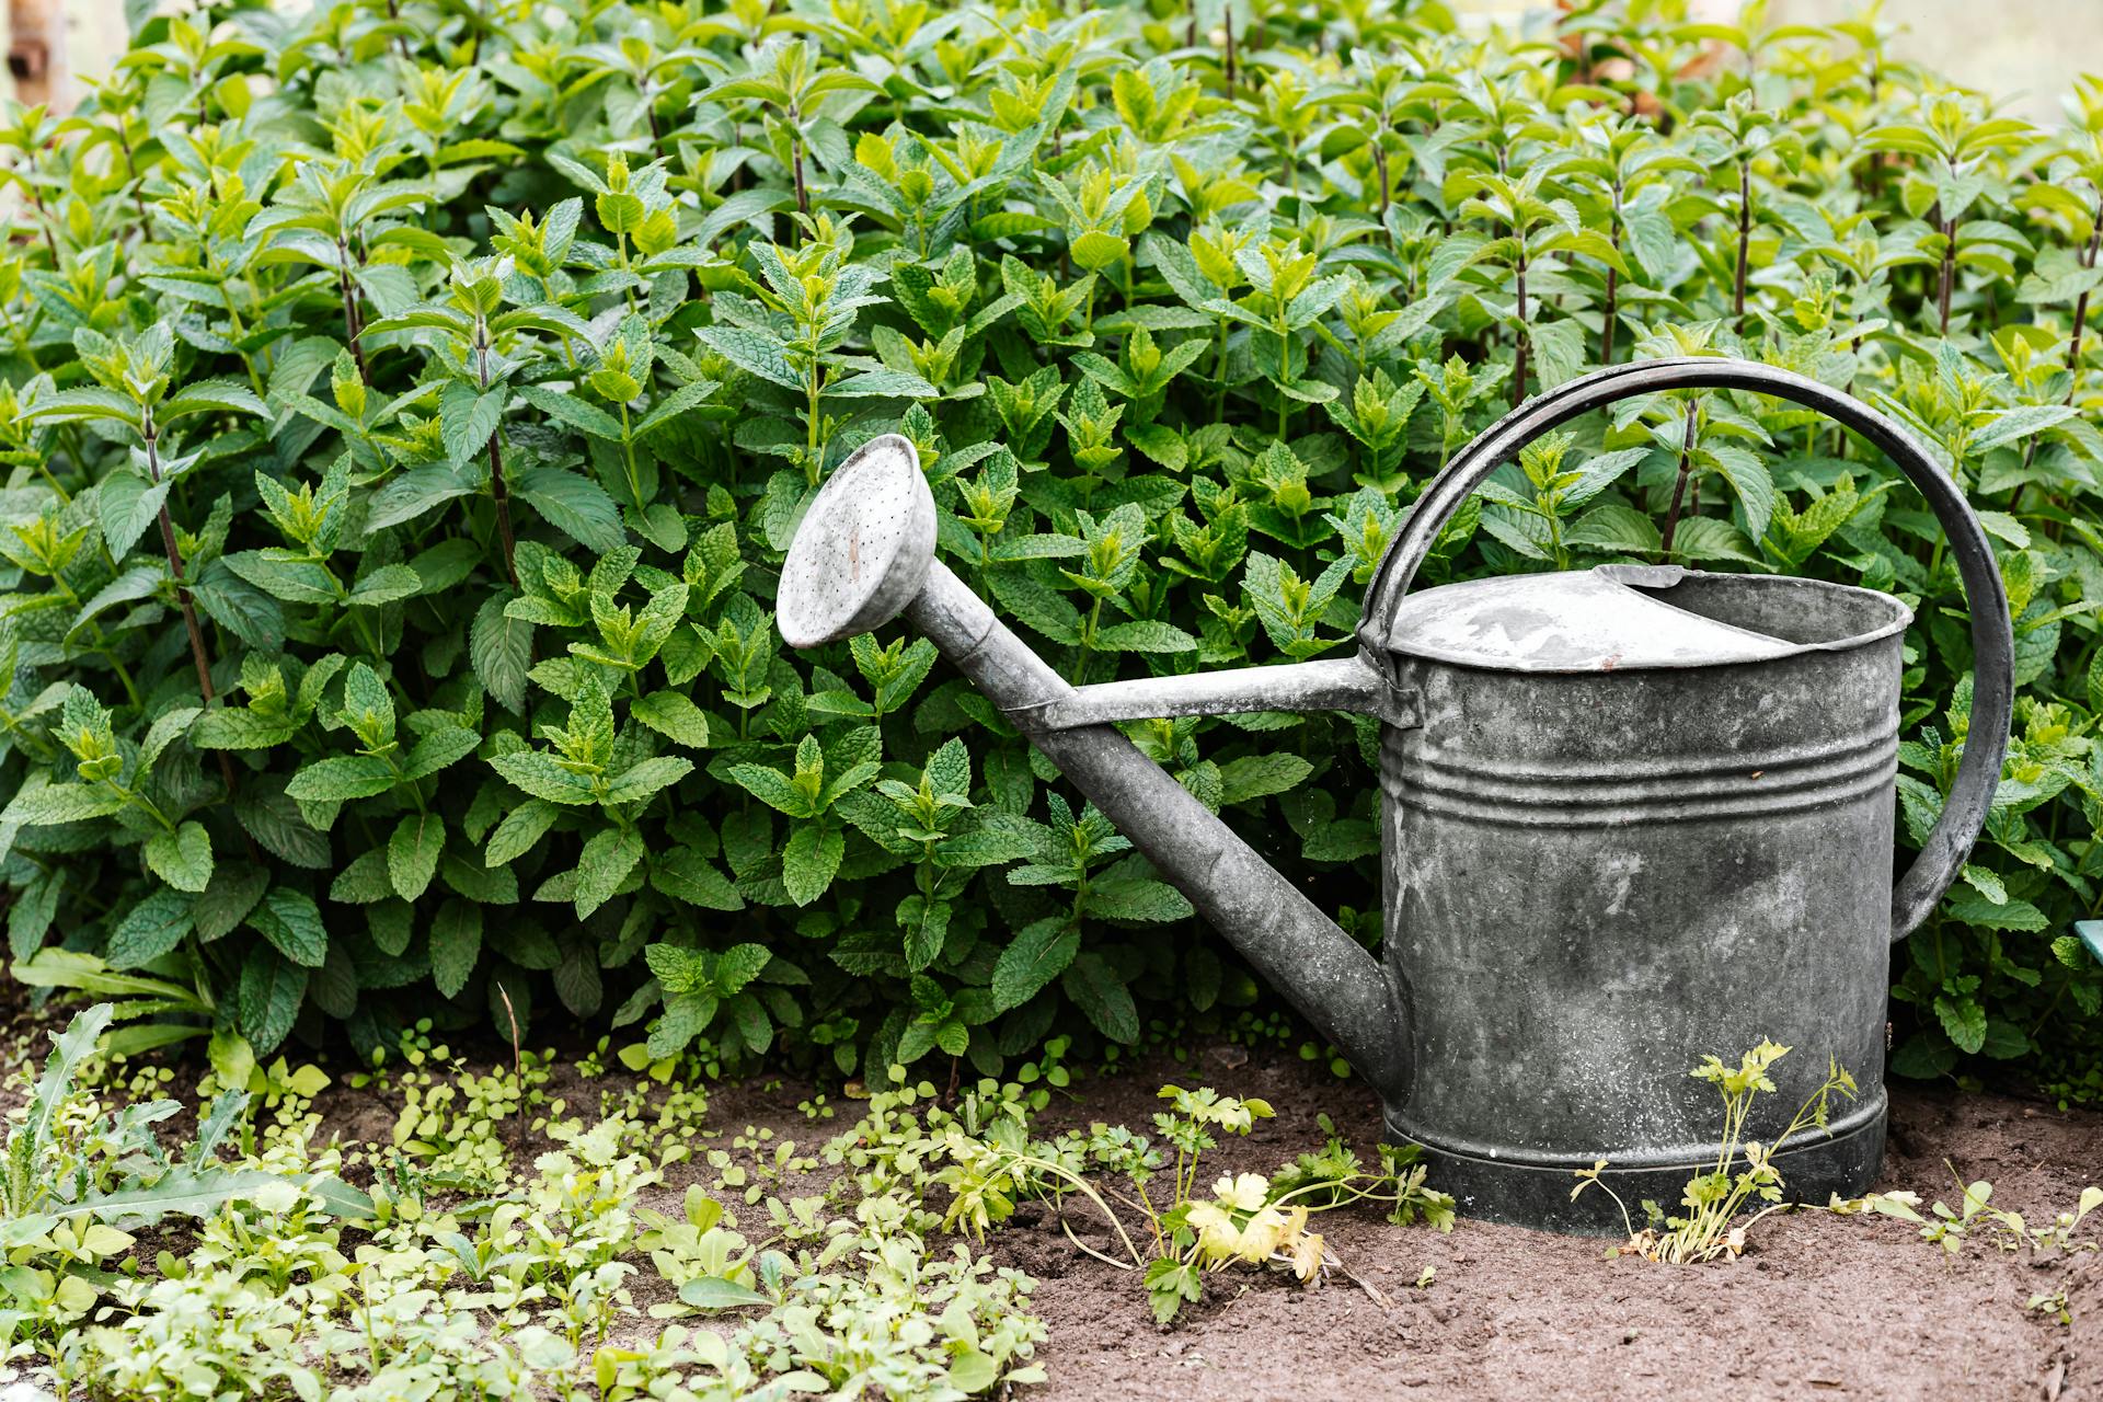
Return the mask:
<svg viewBox="0 0 2103 1402"><path fill-rule="evenodd" d="M1403 599L1388 647L1516 673L1718 666L1806 652L1651 593L1685 574L1678 565L1598 565L1426 589Z"/></svg>

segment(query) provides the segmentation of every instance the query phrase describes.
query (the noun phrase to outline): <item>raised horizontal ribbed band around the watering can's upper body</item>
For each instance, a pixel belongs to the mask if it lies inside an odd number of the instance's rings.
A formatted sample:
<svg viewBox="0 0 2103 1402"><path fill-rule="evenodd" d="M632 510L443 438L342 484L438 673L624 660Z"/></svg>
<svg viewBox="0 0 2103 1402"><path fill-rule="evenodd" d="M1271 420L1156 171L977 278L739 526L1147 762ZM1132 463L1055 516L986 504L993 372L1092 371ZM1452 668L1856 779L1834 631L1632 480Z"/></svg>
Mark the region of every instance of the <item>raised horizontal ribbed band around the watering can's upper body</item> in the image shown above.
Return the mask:
<svg viewBox="0 0 2103 1402"><path fill-rule="evenodd" d="M1701 757L1640 765L1485 769L1459 752L1409 752L1388 731L1388 797L1426 813L1504 828L1619 828L1691 818L1773 818L1891 792L1899 769L1893 731L1846 736L1771 755Z"/></svg>

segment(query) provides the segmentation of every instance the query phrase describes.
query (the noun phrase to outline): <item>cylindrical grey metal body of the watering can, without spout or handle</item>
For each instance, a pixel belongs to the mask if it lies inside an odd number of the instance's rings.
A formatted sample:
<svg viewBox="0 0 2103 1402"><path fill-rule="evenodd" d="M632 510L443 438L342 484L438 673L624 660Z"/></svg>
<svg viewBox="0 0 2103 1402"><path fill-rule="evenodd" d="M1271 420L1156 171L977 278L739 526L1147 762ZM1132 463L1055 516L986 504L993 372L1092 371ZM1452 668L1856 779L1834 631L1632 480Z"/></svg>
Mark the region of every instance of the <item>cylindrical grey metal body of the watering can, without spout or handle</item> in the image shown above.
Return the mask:
<svg viewBox="0 0 2103 1402"><path fill-rule="evenodd" d="M1861 1085L1777 1160L1790 1192L1870 1185L1910 618L1865 589L1626 565L1407 601L1382 895L1417 996L1388 1133L1443 1192L1607 1230L1611 1198L1571 1202L1607 1158L1632 1211L1676 1204L1720 1125L1691 1064L1764 1038L1794 1049L1783 1091L1828 1057ZM1752 1137L1800 1099L1758 1104Z"/></svg>

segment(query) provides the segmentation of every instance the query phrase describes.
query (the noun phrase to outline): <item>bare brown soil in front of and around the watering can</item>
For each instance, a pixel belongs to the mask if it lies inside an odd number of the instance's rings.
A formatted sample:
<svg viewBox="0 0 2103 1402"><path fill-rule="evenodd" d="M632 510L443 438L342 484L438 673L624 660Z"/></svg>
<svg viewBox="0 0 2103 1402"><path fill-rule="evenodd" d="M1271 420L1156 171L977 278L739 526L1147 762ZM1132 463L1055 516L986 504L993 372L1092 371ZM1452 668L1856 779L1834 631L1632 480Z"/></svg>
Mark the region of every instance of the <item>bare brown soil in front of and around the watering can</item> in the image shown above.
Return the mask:
<svg viewBox="0 0 2103 1402"><path fill-rule="evenodd" d="M1197 1078L1277 1108L1209 1167L1268 1171L1321 1143L1316 1114L1359 1146L1380 1133L1369 1091L1291 1057L1209 1047L1195 1068L1140 1066L1085 1087L1049 1122L1144 1127L1161 1080ZM1956 1202L1989 1179L1994 1204L2050 1221L2103 1181L2103 1114L2010 1095L1893 1089L1882 1188ZM1436 1183L1434 1183L1436 1185ZM1451 1236L1340 1211L1319 1225L1344 1276L1304 1291L1279 1274L1216 1276L1207 1301L1157 1328L1134 1274L1024 1211L993 1238L1043 1284L1052 1326L1039 1402L1308 1398L2042 1398L2103 1402L2103 1255L2034 1257L1987 1242L1960 1255L1884 1217L1769 1217L1716 1265L1605 1259L1596 1238L1462 1221ZM2095 1223L2095 1219L2090 1219ZM1079 1219L1075 1221L1079 1230ZM2103 1234L2095 1223L2090 1236ZM1083 1240L1089 1240L1083 1232ZM1426 1267L1434 1276L1417 1288ZM2025 1310L2065 1284L2074 1324Z"/></svg>

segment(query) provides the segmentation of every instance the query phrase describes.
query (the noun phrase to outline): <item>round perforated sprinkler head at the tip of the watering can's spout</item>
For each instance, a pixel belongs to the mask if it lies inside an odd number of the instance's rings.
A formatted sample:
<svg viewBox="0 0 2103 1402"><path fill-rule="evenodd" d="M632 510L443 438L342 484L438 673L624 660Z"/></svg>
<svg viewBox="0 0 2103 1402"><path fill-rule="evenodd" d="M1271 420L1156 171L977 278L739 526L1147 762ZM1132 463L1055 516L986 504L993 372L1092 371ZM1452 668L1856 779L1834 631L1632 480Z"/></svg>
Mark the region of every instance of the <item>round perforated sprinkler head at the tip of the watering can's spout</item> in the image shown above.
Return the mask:
<svg viewBox="0 0 2103 1402"><path fill-rule="evenodd" d="M913 601L934 563L934 494L913 441L873 437L841 462L803 513L774 601L791 647L881 628Z"/></svg>

